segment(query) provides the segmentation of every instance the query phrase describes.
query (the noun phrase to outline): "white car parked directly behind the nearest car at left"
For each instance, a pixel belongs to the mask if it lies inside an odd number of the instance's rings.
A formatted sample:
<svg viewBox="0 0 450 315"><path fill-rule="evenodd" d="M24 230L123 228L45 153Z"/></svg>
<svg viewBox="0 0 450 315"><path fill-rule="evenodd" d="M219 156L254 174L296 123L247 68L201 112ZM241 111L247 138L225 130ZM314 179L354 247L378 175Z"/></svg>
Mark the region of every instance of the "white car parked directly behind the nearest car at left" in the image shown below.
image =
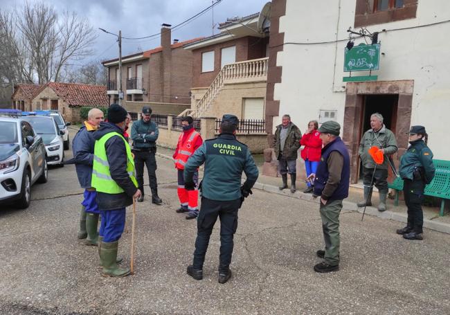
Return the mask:
<svg viewBox="0 0 450 315"><path fill-rule="evenodd" d="M22 112L22 115L27 114ZM57 126L55 119L51 116L35 116L33 112L29 116L23 116L22 119L28 121L39 136L42 137L46 149L46 161L48 165L64 166L64 141L62 132Z"/></svg>

